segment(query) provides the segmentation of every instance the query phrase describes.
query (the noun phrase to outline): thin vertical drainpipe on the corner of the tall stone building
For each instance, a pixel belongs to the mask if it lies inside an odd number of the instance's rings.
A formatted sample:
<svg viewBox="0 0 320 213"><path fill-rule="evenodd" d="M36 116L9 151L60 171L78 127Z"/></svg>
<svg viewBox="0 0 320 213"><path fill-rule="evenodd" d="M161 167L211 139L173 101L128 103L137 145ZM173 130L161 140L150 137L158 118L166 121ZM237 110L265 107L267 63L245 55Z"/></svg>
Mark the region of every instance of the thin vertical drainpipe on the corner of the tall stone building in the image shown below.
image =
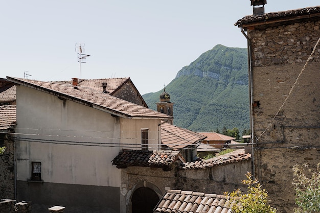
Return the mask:
<svg viewBox="0 0 320 213"><path fill-rule="evenodd" d="M249 105L250 105L250 127L251 127L251 157L252 157L252 172L253 178L255 179L255 153L254 153L254 118L253 118L253 103L254 103L254 94L253 94L253 73L252 73L252 50L251 50L251 40L245 34L244 29L241 27L241 33L247 39L248 46L248 72L249 72Z"/></svg>

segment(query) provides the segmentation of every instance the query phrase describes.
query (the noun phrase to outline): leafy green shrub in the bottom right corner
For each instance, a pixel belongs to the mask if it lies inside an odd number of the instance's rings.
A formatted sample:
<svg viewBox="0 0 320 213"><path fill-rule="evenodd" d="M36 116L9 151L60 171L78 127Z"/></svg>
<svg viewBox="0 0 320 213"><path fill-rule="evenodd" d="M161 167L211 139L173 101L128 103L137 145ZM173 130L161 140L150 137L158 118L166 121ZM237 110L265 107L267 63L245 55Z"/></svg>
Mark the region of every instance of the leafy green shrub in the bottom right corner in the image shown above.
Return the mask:
<svg viewBox="0 0 320 213"><path fill-rule="evenodd" d="M293 182L295 190L296 213L320 212L320 163L316 171L308 169L308 164L294 165ZM309 176L309 177L308 177Z"/></svg>

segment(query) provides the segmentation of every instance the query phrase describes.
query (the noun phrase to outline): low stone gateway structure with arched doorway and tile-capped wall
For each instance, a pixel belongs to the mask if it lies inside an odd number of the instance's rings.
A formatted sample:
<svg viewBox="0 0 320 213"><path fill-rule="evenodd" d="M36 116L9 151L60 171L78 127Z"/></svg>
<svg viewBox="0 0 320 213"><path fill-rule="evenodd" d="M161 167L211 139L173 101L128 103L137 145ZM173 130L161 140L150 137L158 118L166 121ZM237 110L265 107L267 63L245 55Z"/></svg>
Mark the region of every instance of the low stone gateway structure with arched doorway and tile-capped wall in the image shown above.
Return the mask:
<svg viewBox="0 0 320 213"><path fill-rule="evenodd" d="M178 151L122 150L112 164L121 170L120 212L152 212L168 190L204 195L243 187L240 183L251 171L251 155L242 149L208 160L185 162Z"/></svg>

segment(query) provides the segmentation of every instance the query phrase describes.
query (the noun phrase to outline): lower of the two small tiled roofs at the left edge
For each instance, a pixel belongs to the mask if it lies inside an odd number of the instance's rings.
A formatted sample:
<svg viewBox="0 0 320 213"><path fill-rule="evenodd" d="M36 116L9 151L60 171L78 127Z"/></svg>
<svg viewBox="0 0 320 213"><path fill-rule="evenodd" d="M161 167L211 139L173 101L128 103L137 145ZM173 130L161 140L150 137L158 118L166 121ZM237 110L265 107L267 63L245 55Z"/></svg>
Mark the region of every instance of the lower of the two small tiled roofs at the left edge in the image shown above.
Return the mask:
<svg viewBox="0 0 320 213"><path fill-rule="evenodd" d="M16 106L0 106L0 129L8 129L16 124Z"/></svg>

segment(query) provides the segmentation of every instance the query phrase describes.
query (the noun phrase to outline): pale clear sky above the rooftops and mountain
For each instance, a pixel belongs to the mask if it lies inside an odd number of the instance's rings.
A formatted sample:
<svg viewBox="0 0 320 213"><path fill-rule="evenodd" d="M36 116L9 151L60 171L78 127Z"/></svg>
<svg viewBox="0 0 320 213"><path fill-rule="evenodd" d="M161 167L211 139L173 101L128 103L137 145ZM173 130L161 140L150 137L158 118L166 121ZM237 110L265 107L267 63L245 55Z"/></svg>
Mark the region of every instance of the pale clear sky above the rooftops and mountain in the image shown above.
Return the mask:
<svg viewBox="0 0 320 213"><path fill-rule="evenodd" d="M265 12L313 7L318 0L268 0ZM0 78L40 81L130 77L141 94L162 90L217 44L246 48L234 23L249 0L4 1ZM77 61L84 43L86 63Z"/></svg>

